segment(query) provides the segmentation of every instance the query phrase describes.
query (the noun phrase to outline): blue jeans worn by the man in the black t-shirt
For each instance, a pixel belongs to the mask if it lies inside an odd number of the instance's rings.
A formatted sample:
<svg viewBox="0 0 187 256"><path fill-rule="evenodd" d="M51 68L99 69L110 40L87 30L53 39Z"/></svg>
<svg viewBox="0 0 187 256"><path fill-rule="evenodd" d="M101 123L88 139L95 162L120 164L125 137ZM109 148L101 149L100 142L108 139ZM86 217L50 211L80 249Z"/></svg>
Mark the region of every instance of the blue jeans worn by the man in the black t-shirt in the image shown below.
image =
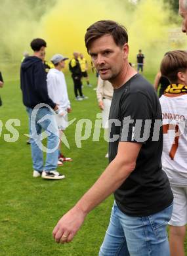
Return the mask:
<svg viewBox="0 0 187 256"><path fill-rule="evenodd" d="M130 217L114 202L99 256L169 256L167 223L173 203L148 217Z"/></svg>

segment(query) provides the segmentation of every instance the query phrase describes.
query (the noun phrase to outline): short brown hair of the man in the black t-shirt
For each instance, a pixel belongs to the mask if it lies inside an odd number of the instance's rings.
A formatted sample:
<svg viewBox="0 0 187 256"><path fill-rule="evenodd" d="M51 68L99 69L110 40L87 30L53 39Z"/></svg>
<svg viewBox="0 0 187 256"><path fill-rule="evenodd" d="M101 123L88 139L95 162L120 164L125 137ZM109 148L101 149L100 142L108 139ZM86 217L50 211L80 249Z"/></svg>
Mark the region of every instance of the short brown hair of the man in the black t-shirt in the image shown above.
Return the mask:
<svg viewBox="0 0 187 256"><path fill-rule="evenodd" d="M123 46L125 43L128 43L127 29L124 26L113 20L99 20L87 28L85 45L88 52L90 43L103 35L112 35L118 46Z"/></svg>

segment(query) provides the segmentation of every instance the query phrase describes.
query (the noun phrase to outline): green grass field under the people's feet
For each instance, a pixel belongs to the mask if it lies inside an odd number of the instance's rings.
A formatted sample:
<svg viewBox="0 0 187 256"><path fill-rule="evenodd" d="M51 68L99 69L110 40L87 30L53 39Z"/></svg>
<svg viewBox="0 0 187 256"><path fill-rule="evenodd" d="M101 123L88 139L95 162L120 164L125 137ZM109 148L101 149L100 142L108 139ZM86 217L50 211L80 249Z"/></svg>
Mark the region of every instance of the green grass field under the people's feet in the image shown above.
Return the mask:
<svg viewBox="0 0 187 256"><path fill-rule="evenodd" d="M152 82L154 75L146 75ZM84 86L88 100L77 102L73 96L72 79L67 75L68 92L72 102L72 114L77 120L89 118L93 121L99 112L95 91ZM96 77L91 75L93 87ZM93 132L82 147L75 145L75 123L66 131L70 150L64 148L66 156L73 158L58 170L66 175L61 181L46 181L32 177L30 146L26 145L24 133L28 133L28 117L22 104L18 80L5 81L0 91L3 106L0 108L1 150L1 198L0 198L0 255L1 256L94 256L108 225L113 196L96 207L87 217L83 227L70 244L58 245L52 239L52 229L58 219L70 209L81 195L98 178L106 167L104 158L107 143L101 133L100 141L93 142ZM5 127L8 119L20 119L16 142L5 142L4 135L10 133ZM93 130L92 130L93 131Z"/></svg>

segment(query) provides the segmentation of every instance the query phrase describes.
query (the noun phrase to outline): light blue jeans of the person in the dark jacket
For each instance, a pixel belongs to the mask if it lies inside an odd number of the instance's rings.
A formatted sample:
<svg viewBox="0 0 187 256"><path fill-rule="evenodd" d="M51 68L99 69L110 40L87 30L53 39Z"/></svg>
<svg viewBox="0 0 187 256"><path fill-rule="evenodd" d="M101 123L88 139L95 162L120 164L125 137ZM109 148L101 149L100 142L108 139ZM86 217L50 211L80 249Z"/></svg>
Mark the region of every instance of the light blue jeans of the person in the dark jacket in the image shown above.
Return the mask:
<svg viewBox="0 0 187 256"><path fill-rule="evenodd" d="M30 131L31 127L35 127L35 131L32 131L31 134L31 157L33 161L33 169L39 172L43 170L53 171L57 167L59 144L58 127L56 125L54 114L52 114L49 108L43 107L39 108L35 119L31 119L31 113L33 109L26 108L26 110L30 119ZM45 161L45 167L43 166L43 150L41 148L42 129L49 135L47 137L47 157Z"/></svg>

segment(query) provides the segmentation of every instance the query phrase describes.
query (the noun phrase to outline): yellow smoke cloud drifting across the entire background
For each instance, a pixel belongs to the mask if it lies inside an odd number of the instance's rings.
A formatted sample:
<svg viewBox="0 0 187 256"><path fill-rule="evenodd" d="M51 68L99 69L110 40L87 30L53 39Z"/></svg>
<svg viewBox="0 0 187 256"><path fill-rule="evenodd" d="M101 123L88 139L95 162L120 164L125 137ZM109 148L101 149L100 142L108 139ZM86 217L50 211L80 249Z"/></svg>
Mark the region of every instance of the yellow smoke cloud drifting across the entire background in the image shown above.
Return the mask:
<svg viewBox="0 0 187 256"><path fill-rule="evenodd" d="M47 41L47 60L55 53L71 58L73 51L78 51L90 62L85 32L93 22L106 19L127 28L129 61L135 63L138 49L142 49L147 70L156 72L166 51L186 48L169 41L169 29L180 24L171 24L163 0L140 0L136 5L129 0L3 0L0 8L0 62L20 63L24 51L31 54L30 41L34 37Z"/></svg>

